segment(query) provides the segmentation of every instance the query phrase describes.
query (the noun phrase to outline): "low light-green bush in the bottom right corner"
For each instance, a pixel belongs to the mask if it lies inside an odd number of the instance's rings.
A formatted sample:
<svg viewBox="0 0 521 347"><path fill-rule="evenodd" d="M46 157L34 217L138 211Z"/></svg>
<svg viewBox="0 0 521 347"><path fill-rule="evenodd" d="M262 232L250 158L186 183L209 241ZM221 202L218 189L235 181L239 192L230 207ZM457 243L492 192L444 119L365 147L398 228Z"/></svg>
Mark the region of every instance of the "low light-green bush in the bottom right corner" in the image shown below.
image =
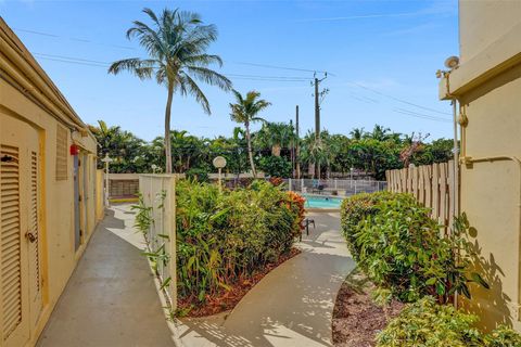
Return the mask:
<svg viewBox="0 0 521 347"><path fill-rule="evenodd" d="M449 305L424 297L405 306L398 317L377 335L378 347L520 347L521 335L499 325L491 334L473 327L479 321Z"/></svg>

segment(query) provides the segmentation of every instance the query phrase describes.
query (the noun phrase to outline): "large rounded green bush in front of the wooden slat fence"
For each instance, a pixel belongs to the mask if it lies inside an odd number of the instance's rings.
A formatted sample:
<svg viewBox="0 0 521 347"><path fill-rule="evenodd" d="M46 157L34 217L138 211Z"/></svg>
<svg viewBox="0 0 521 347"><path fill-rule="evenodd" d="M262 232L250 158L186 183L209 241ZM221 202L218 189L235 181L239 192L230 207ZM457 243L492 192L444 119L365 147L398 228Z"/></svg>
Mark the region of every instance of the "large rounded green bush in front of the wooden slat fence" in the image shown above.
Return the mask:
<svg viewBox="0 0 521 347"><path fill-rule="evenodd" d="M359 268L378 294L411 303L425 295L447 303L455 293L470 298L468 282L487 284L468 273L468 221L457 220L450 237L441 237L430 209L409 194L360 194L344 201L342 230ZM463 252L462 252L463 250ZM456 261L456 254L459 256Z"/></svg>

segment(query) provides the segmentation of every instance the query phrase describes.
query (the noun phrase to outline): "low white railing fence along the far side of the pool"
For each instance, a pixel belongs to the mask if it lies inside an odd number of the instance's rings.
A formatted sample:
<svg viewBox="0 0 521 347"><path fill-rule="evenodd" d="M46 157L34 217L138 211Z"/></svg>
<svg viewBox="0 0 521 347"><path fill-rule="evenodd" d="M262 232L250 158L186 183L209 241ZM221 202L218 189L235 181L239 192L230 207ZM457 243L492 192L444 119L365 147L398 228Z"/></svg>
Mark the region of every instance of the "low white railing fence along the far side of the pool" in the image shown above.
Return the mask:
<svg viewBox="0 0 521 347"><path fill-rule="evenodd" d="M284 179L290 191L326 195L351 196L358 193L384 191L385 181L341 180L341 179Z"/></svg>

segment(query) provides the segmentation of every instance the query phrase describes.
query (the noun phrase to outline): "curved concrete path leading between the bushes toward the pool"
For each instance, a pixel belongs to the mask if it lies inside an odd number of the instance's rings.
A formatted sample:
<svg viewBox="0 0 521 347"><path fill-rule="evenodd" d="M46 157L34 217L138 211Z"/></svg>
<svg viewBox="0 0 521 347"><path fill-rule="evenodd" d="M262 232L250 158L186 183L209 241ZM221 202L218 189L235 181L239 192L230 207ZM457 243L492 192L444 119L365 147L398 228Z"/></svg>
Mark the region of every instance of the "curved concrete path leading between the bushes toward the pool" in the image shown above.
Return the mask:
<svg viewBox="0 0 521 347"><path fill-rule="evenodd" d="M228 316L178 322L186 347L332 346L331 317L342 282L355 267L339 214L310 214L317 229L303 253L264 278Z"/></svg>

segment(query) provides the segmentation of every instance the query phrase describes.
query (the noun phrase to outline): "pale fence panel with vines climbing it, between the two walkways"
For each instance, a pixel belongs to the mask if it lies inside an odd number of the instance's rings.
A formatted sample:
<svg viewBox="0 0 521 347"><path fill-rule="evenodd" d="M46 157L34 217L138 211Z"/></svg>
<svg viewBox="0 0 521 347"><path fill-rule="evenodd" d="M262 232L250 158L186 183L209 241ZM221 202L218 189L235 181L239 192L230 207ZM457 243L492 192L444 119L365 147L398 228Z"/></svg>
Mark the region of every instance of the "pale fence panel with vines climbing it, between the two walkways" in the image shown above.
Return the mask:
<svg viewBox="0 0 521 347"><path fill-rule="evenodd" d="M145 232L148 252L154 254L160 282L171 309L177 308L176 175L140 175L139 190L152 222Z"/></svg>

